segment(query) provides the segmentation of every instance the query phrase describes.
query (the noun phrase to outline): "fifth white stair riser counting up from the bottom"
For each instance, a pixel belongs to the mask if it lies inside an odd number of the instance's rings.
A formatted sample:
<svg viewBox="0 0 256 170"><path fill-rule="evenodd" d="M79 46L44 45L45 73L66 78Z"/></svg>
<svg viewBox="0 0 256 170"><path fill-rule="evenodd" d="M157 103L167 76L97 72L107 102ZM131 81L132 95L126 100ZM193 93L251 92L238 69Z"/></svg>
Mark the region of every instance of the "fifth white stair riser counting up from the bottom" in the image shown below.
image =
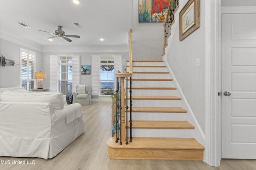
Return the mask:
<svg viewBox="0 0 256 170"><path fill-rule="evenodd" d="M126 86L126 82L124 83ZM132 87L173 87L172 81L132 81ZM130 81L128 81L128 87L130 87Z"/></svg>

